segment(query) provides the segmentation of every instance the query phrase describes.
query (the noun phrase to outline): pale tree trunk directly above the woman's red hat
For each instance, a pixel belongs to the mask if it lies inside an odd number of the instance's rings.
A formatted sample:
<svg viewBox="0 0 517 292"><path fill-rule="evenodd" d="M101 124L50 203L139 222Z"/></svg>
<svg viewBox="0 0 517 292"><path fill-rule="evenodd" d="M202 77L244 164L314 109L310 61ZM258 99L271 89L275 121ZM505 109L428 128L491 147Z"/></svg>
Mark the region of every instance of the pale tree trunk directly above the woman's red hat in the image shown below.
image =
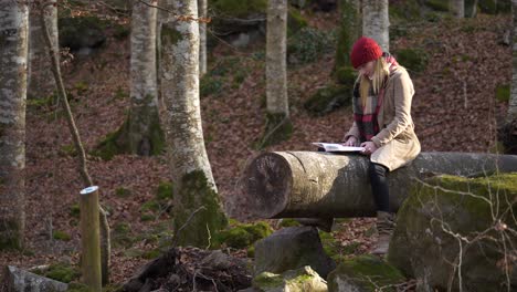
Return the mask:
<svg viewBox="0 0 517 292"><path fill-rule="evenodd" d="M362 0L362 33L390 51L390 17L388 0Z"/></svg>

